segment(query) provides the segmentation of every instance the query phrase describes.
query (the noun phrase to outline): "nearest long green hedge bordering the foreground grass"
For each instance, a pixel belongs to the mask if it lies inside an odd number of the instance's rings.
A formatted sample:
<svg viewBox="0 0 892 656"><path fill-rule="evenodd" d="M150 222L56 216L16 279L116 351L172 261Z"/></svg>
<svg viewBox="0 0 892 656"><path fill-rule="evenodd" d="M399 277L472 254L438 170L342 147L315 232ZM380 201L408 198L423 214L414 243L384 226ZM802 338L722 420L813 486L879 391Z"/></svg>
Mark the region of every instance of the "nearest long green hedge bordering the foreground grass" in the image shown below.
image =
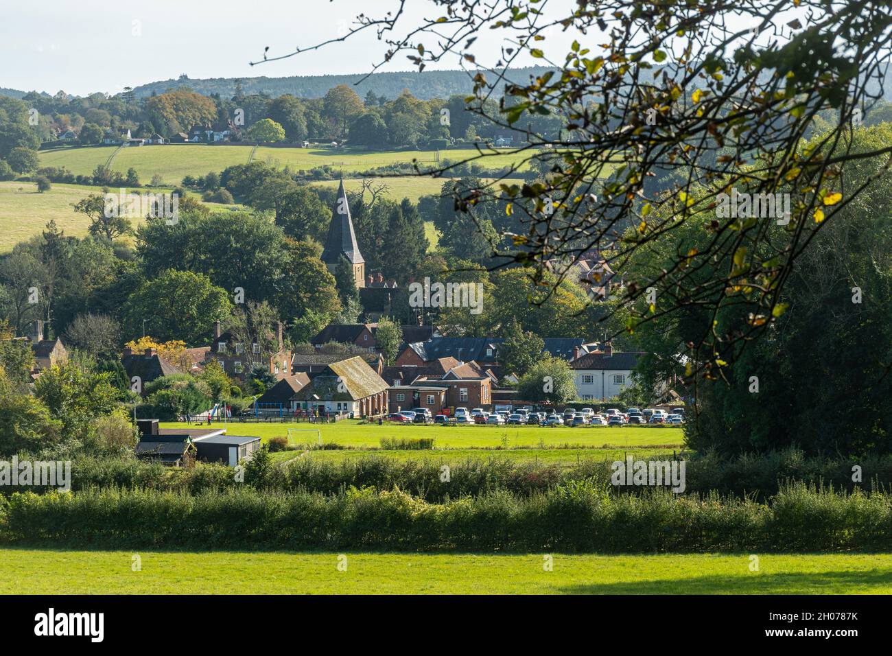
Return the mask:
<svg viewBox="0 0 892 656"><path fill-rule="evenodd" d="M184 549L510 552L888 551L892 496L797 484L771 503L594 481L432 504L400 490L198 495L151 490L17 493L0 500L7 544Z"/></svg>

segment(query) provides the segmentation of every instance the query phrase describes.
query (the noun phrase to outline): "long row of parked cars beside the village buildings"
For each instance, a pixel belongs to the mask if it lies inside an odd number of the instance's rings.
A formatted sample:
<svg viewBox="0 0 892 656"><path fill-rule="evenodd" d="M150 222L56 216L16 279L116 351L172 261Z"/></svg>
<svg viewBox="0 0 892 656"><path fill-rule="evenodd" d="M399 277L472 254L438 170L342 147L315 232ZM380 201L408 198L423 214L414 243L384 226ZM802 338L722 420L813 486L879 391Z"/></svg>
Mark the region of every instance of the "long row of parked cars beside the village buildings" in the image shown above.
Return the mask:
<svg viewBox="0 0 892 656"><path fill-rule="evenodd" d="M488 412L483 408L456 408L455 416L444 414L432 416L426 408L413 408L400 412L392 412L386 419L401 424L443 424L443 425L470 425L482 424L487 426L623 426L624 424L682 424L684 423L684 409L673 408L672 413L653 408L629 408L620 411L616 408L608 408L604 413L596 413L591 408L574 410L566 408L563 414L535 412L532 408L519 408L514 411L500 410Z"/></svg>

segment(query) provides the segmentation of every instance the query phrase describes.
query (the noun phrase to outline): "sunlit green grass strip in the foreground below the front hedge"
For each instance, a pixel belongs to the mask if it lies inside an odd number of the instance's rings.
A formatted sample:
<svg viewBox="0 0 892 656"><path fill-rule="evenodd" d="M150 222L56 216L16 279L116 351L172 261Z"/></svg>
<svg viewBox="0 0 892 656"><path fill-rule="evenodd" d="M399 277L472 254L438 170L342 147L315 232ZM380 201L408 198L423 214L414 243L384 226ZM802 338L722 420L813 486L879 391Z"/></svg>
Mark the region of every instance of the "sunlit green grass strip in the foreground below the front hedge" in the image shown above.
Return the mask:
<svg viewBox="0 0 892 656"><path fill-rule="evenodd" d="M0 549L0 594L892 593L892 554L758 555Z"/></svg>

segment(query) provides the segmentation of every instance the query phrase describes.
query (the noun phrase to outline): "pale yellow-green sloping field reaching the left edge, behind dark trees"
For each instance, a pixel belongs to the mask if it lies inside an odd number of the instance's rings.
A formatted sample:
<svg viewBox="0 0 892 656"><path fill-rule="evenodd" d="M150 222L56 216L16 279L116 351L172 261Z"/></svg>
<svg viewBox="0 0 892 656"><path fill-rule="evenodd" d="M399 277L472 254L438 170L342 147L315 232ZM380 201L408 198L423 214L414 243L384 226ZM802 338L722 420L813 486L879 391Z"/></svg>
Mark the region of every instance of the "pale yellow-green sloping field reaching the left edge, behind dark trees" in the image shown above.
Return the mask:
<svg viewBox="0 0 892 656"><path fill-rule="evenodd" d="M133 189L135 193L169 192L169 189ZM50 220L65 231L66 235L83 237L87 234L90 221L83 214L74 211L74 204L91 194L101 194L101 187L84 185L64 185L53 183L53 188L43 194L31 182L0 182L0 253L12 250L12 246L39 235ZM118 187L112 190L118 193ZM201 198L200 194L188 195ZM233 205L204 203L211 211L222 210ZM235 205L240 207L240 205ZM133 220L134 227L139 220Z"/></svg>

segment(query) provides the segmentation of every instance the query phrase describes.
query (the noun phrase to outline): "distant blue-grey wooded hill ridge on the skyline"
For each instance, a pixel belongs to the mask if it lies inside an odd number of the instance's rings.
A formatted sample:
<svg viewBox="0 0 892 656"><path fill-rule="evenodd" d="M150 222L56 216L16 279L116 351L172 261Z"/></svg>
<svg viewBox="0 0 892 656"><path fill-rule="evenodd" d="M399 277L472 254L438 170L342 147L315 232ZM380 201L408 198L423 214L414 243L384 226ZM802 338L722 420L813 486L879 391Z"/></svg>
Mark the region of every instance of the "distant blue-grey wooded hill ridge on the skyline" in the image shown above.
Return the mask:
<svg viewBox="0 0 892 656"><path fill-rule="evenodd" d="M548 71L549 67L531 66L515 69L508 72L508 79L512 82L526 82L530 75L541 75ZM320 98L326 95L328 89L339 84L347 85L356 91L359 96L364 96L369 90L376 95L392 99L401 94L403 89L422 100L431 98L447 98L454 94L470 94L474 88L471 79L473 73L468 71L402 71L373 73L359 84L365 73L352 75L295 75L287 78L209 78L209 79L167 79L158 82L150 82L140 87L134 87L136 97L152 95L153 92L161 94L169 88L189 87L202 95L219 94L221 97L230 98L235 95L235 82L241 80L245 94L267 94L271 97L291 94L299 98Z"/></svg>

